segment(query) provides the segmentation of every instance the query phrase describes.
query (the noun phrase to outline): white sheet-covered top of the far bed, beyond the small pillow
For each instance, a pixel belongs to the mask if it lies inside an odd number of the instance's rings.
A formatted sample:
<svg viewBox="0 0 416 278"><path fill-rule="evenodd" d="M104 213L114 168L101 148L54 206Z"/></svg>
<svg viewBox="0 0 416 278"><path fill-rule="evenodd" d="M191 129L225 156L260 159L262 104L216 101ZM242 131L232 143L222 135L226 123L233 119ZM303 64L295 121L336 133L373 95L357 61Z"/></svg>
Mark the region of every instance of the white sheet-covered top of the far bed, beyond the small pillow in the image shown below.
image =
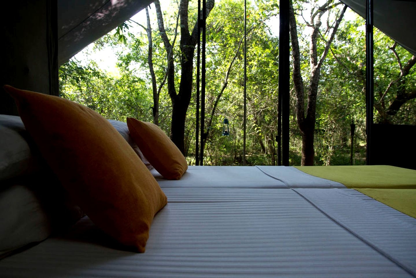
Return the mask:
<svg viewBox="0 0 416 278"><path fill-rule="evenodd" d="M166 180L151 170L161 188L345 188L285 166L188 166L180 180Z"/></svg>

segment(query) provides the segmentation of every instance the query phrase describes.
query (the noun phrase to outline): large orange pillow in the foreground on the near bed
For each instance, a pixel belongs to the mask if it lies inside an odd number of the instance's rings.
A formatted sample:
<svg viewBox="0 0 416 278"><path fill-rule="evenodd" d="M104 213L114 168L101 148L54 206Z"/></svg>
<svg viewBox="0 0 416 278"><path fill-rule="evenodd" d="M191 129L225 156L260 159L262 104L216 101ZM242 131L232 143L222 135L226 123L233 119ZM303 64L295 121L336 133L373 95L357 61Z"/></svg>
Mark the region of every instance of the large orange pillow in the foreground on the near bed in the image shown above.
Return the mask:
<svg viewBox="0 0 416 278"><path fill-rule="evenodd" d="M56 96L5 86L30 136L91 220L144 252L166 195L119 132L93 110Z"/></svg>

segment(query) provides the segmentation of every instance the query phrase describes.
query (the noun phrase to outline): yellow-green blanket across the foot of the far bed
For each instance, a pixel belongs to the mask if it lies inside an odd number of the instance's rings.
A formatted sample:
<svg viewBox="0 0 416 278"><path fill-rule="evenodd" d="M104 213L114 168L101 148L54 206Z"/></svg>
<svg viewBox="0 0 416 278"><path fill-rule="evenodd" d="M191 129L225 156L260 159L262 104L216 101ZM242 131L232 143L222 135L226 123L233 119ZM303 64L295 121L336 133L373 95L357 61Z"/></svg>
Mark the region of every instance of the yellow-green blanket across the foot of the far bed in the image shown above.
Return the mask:
<svg viewBox="0 0 416 278"><path fill-rule="evenodd" d="M342 183L347 188L413 188L416 170L388 165L295 166L310 175Z"/></svg>

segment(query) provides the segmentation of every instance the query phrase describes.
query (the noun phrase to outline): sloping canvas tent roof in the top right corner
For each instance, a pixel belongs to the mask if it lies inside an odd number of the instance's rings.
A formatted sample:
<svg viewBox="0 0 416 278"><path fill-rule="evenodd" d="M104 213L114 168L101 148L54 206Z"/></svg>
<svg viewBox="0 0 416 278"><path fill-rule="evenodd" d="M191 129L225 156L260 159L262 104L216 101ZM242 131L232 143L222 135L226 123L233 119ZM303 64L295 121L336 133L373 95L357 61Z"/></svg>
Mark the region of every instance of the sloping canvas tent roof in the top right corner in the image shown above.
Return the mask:
<svg viewBox="0 0 416 278"><path fill-rule="evenodd" d="M365 18L366 0L341 0ZM374 26L416 55L416 2L414 0L374 0Z"/></svg>

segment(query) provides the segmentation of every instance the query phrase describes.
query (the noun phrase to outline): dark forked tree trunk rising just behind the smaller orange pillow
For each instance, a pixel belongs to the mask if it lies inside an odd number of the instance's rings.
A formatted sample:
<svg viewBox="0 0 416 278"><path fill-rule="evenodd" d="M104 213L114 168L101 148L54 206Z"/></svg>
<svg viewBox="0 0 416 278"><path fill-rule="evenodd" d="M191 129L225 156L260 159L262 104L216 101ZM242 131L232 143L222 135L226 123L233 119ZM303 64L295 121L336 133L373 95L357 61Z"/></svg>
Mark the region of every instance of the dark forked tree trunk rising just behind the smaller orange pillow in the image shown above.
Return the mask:
<svg viewBox="0 0 416 278"><path fill-rule="evenodd" d="M189 0L181 0L179 4L179 16L181 25L181 78L179 90L175 86L175 65L173 61L173 44L171 44L163 23L163 16L158 0L155 2L156 15L158 20L159 32L166 49L167 65L167 84L168 94L172 102L172 122L171 122L171 139L173 143L185 154L185 123L186 112L191 101L192 84L193 84L193 56L195 46L198 42L198 24L195 23L192 32L189 29L188 4ZM206 2L206 16L214 7L214 0ZM194 20L196 22L196 20Z"/></svg>

